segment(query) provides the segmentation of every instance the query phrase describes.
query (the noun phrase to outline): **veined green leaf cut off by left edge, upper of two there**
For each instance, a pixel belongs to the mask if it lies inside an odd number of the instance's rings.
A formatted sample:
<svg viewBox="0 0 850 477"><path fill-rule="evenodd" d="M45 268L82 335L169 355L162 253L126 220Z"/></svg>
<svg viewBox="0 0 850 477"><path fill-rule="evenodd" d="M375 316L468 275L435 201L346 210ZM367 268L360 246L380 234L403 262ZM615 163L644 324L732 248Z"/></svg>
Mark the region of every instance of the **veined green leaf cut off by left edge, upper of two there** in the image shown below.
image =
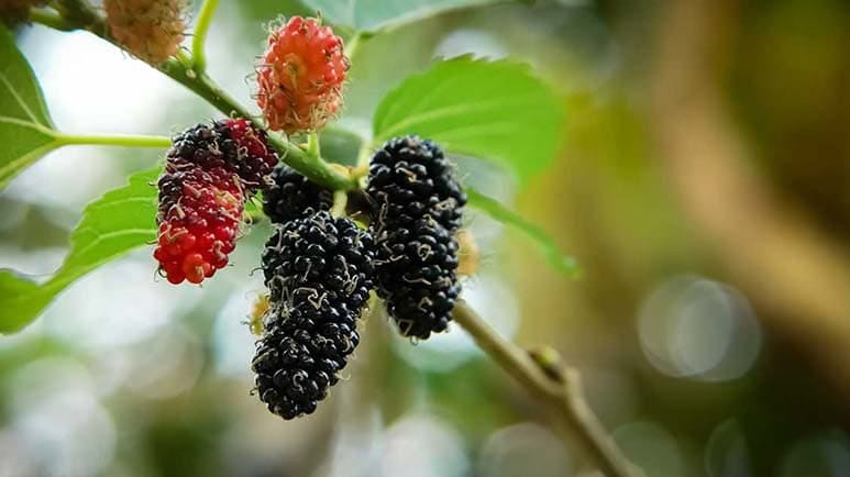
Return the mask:
<svg viewBox="0 0 850 477"><path fill-rule="evenodd" d="M60 146L38 81L0 25L0 188L38 157Z"/></svg>

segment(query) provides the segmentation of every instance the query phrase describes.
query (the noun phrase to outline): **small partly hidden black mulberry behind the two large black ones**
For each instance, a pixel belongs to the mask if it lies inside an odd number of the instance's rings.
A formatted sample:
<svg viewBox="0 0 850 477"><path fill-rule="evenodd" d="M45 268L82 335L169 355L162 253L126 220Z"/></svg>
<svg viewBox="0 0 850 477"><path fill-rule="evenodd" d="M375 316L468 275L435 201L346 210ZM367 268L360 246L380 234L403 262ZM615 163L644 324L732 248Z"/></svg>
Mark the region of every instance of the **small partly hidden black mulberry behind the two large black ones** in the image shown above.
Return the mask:
<svg viewBox="0 0 850 477"><path fill-rule="evenodd" d="M333 193L297 170L279 164L263 190L263 211L273 223L286 223L313 212L330 210Z"/></svg>

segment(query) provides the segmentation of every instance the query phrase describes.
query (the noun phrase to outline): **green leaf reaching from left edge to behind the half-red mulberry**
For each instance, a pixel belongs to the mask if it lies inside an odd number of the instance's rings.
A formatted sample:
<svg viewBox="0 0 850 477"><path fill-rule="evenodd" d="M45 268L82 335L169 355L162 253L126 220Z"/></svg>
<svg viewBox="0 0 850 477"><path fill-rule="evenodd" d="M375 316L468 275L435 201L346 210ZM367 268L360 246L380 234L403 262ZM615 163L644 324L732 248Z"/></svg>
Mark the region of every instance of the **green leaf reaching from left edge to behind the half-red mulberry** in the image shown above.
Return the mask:
<svg viewBox="0 0 850 477"><path fill-rule="evenodd" d="M70 252L59 270L38 286L0 270L0 333L30 324L53 298L98 266L156 239L156 180L161 168L130 176L130 184L89 203L70 235Z"/></svg>

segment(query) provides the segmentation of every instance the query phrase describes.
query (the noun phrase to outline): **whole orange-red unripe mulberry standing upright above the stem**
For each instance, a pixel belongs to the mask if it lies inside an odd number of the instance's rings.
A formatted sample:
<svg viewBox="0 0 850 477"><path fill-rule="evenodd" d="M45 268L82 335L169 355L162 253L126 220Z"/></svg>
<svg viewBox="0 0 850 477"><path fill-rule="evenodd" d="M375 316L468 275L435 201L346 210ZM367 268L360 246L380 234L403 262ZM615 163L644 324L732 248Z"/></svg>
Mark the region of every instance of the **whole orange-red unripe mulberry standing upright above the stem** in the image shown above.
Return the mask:
<svg viewBox="0 0 850 477"><path fill-rule="evenodd" d="M322 127L342 106L347 69L342 38L330 26L292 16L272 31L256 69L268 127L287 134Z"/></svg>

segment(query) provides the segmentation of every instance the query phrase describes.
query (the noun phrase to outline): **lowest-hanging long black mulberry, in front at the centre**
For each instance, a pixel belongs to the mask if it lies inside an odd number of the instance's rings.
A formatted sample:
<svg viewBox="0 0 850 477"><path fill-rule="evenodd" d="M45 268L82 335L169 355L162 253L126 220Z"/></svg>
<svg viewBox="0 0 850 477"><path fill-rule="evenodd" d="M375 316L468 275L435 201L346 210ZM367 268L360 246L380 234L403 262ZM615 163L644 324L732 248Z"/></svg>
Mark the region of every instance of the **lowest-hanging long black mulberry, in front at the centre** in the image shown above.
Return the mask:
<svg viewBox="0 0 850 477"><path fill-rule="evenodd" d="M284 223L266 243L271 309L252 368L256 390L284 419L309 414L360 342L374 244L350 219L319 211Z"/></svg>

